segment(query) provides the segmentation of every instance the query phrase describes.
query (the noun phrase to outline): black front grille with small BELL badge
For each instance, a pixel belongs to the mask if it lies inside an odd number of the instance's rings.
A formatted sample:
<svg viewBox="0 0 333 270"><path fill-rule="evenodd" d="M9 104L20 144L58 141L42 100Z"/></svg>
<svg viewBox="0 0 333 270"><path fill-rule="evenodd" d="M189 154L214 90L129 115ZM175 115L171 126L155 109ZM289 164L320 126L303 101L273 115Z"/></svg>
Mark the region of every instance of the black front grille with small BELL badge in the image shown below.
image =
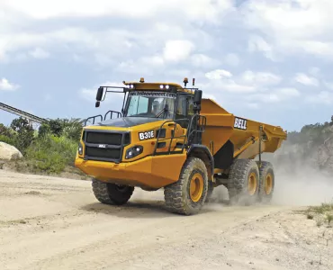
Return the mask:
<svg viewBox="0 0 333 270"><path fill-rule="evenodd" d="M85 159L120 162L124 146L130 144L129 132L85 130Z"/></svg>

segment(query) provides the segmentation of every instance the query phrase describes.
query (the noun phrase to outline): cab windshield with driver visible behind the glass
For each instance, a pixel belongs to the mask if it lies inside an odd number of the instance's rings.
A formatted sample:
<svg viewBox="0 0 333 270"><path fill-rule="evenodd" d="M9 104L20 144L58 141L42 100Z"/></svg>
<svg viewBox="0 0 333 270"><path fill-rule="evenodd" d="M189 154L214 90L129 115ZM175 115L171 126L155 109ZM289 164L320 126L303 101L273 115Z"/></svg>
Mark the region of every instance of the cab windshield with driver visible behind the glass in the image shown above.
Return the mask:
<svg viewBox="0 0 333 270"><path fill-rule="evenodd" d="M175 97L166 92L131 92L126 116L173 119Z"/></svg>

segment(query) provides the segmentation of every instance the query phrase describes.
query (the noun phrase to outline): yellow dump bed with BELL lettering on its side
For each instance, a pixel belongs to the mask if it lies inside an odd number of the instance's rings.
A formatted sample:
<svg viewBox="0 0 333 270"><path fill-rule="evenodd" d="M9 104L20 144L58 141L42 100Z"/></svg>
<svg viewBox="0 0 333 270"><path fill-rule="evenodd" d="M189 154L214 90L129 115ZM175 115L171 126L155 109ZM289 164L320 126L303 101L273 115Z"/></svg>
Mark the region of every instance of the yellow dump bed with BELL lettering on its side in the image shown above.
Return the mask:
<svg viewBox="0 0 333 270"><path fill-rule="evenodd" d="M211 99L202 99L201 114L207 121L202 143L213 155L229 140L234 146L234 157L254 158L259 154L260 132L263 134L261 152L275 152L287 137L281 127L237 117Z"/></svg>

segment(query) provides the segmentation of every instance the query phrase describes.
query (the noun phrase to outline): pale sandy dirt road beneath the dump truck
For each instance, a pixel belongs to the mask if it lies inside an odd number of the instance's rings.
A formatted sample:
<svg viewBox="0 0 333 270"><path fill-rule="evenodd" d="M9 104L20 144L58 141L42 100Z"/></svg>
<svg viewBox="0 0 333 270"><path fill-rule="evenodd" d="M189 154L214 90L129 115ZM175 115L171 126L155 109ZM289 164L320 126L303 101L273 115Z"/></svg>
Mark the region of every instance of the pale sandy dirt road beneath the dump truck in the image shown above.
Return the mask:
<svg viewBox="0 0 333 270"><path fill-rule="evenodd" d="M90 182L0 171L0 269L333 269L325 228L289 206L208 204L195 216L135 191L96 202Z"/></svg>

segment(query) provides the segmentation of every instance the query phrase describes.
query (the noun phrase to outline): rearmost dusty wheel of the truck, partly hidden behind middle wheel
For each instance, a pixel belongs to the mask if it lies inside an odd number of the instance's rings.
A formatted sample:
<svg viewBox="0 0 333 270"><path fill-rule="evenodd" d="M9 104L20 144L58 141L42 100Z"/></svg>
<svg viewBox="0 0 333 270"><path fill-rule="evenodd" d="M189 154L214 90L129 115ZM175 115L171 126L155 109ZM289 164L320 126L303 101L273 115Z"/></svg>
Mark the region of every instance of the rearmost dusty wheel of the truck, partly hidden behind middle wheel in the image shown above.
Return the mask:
<svg viewBox="0 0 333 270"><path fill-rule="evenodd" d="M259 166L259 162L257 161ZM271 202L275 189L275 173L273 165L268 161L262 161L259 181L259 200L260 202Z"/></svg>

